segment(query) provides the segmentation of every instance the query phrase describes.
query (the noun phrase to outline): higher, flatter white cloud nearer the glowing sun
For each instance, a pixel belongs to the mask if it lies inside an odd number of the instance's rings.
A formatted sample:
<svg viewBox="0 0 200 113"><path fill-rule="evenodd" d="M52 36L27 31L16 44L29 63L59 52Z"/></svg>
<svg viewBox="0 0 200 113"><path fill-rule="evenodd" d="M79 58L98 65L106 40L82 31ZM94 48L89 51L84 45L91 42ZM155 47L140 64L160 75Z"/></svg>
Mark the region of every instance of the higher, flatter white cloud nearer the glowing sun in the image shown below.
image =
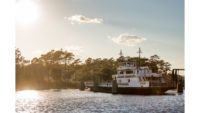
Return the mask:
<svg viewBox="0 0 200 113"><path fill-rule="evenodd" d="M89 18L83 15L73 15L71 17L64 17L64 19L68 19L71 22L71 24L75 23L101 24L103 22L102 18Z"/></svg>

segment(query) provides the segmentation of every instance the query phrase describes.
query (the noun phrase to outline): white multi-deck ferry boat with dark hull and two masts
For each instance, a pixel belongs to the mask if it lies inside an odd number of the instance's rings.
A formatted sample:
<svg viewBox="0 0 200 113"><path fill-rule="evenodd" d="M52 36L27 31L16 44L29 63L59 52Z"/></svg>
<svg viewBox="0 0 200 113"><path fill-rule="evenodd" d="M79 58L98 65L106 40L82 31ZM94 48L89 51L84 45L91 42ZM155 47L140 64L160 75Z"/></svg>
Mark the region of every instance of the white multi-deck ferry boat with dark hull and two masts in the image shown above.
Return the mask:
<svg viewBox="0 0 200 113"><path fill-rule="evenodd" d="M139 62L131 62L120 51L120 65L117 68L117 74L112 75L112 83L96 85L95 83L93 85L86 83L86 87L96 92L122 94L164 94L169 89L175 89L175 87L167 85L162 74L153 73L148 66L140 66L140 48L138 53Z"/></svg>

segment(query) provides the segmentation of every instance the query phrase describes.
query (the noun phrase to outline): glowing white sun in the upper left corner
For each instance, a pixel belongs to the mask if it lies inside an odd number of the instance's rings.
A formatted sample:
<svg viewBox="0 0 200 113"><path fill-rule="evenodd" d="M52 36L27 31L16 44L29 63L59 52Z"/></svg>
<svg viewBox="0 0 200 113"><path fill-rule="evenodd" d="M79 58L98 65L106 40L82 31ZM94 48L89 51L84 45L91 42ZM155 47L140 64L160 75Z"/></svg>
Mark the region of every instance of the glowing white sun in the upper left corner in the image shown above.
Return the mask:
<svg viewBox="0 0 200 113"><path fill-rule="evenodd" d="M38 6L31 0L16 2L16 19L21 24L31 24L38 18Z"/></svg>

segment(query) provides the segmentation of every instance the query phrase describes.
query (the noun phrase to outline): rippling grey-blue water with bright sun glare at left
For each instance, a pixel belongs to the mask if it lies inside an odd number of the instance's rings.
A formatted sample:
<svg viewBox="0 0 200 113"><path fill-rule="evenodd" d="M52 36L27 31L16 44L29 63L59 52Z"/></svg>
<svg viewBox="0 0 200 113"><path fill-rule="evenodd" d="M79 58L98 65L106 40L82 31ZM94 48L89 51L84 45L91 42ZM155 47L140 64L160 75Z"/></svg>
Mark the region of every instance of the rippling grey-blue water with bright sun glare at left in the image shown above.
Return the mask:
<svg viewBox="0 0 200 113"><path fill-rule="evenodd" d="M184 113L184 94L112 95L67 90L17 91L17 113Z"/></svg>

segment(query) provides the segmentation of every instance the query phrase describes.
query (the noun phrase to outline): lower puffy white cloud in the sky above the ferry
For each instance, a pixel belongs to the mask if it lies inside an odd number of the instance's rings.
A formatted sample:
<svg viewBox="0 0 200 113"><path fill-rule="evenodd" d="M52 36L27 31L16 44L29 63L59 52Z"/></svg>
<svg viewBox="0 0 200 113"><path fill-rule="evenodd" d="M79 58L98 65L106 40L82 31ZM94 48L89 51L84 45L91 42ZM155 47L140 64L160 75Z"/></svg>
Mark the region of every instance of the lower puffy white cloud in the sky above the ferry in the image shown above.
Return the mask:
<svg viewBox="0 0 200 113"><path fill-rule="evenodd" d="M125 46L135 46L146 40L145 38L130 34L120 34L118 37L110 37L110 39L116 44Z"/></svg>

